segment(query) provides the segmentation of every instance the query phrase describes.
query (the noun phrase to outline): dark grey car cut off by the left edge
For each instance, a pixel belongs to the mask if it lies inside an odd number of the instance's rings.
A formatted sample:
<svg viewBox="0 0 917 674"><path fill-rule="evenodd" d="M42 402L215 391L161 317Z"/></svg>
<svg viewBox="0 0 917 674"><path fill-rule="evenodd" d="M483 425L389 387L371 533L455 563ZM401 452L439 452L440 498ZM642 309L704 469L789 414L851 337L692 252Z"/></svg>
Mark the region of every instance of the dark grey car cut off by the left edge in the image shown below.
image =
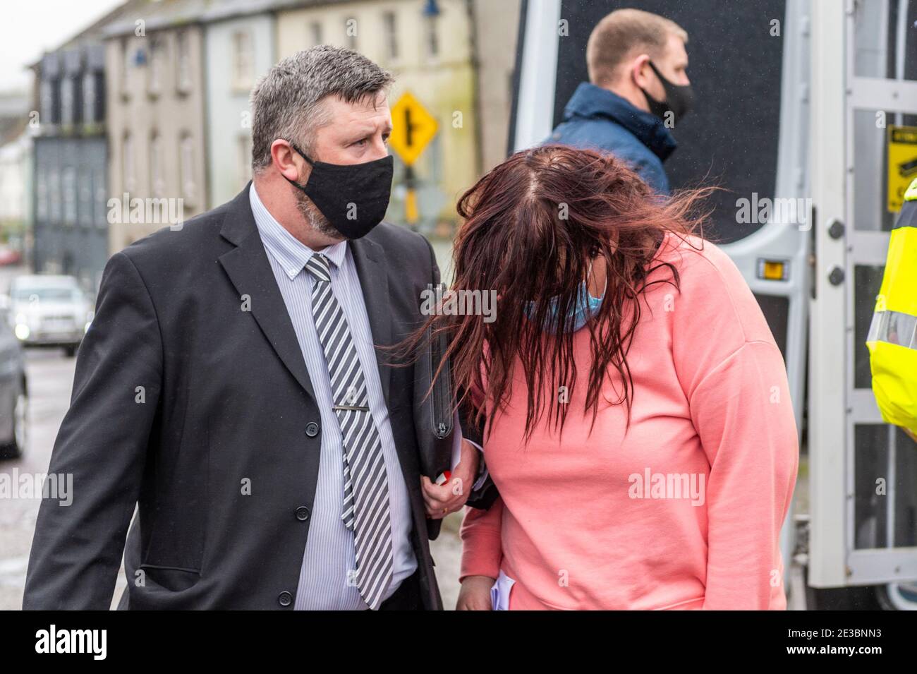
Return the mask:
<svg viewBox="0 0 917 674"><path fill-rule="evenodd" d="M28 385L22 346L0 321L0 458L16 459L26 449Z"/></svg>

